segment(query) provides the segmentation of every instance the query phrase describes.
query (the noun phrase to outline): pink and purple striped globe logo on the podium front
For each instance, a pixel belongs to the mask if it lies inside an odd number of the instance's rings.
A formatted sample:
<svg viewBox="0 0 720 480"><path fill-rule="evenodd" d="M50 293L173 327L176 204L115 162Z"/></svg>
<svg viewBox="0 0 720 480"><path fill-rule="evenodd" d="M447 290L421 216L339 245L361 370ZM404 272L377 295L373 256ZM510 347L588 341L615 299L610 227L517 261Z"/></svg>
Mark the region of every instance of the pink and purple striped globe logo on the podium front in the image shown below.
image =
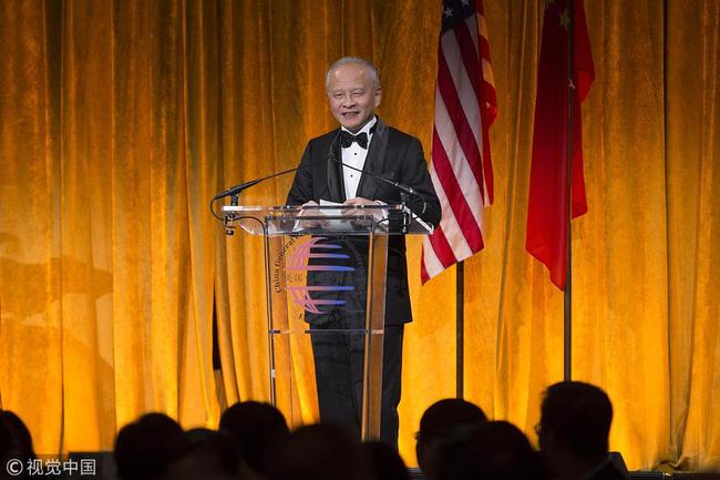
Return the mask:
<svg viewBox="0 0 720 480"><path fill-rule="evenodd" d="M312 237L310 241L300 245L291 255L288 256L288 264L286 269L289 272L354 272L353 267L346 265L332 265L331 261L347 261L350 258L349 255L342 253L342 247L340 245L326 242L327 237ZM322 259L321 265L317 265L312 262L313 258ZM311 275L308 274L308 278ZM320 276L319 276L320 277ZM322 278L322 277L320 277ZM338 275L338 278L342 278L341 275ZM332 280L332 276L328 276L329 280ZM353 286L346 285L304 285L304 286L290 286L288 285L287 290L290 293L292 303L305 308L305 312L311 314L327 314L328 312L320 310L322 306L340 306L344 305L346 300L340 299L342 292L353 290ZM336 298L313 298L312 293L338 293Z"/></svg>

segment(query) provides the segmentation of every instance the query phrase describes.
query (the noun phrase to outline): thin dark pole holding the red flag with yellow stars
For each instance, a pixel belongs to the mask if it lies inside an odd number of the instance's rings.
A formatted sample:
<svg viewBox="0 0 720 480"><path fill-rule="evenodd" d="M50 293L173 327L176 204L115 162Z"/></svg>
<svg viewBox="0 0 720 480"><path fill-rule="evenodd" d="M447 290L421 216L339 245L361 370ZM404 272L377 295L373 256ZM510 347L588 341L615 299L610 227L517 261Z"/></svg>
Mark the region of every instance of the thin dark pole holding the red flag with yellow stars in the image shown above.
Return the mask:
<svg viewBox="0 0 720 480"><path fill-rule="evenodd" d="M573 150L575 146L575 130L573 126L573 112L575 106L575 84L573 82L575 62L574 62L574 41L575 41L575 0L567 0L567 10L569 13L568 24L568 109L567 109L567 266L565 275L565 290L563 298L563 318L564 318L564 375L563 379L569 381L573 379Z"/></svg>

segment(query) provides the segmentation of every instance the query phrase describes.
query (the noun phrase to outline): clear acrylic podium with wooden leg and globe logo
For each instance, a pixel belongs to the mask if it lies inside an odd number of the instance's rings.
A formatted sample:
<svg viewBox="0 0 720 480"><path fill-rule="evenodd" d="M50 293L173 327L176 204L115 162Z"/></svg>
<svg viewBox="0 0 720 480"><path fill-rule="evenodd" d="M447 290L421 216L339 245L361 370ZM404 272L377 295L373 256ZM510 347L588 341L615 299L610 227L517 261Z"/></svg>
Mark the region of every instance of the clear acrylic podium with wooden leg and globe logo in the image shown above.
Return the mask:
<svg viewBox="0 0 720 480"><path fill-rule="evenodd" d="M272 405L291 428L312 421L313 345L343 341L362 359L361 437L378 439L389 235L432 227L404 205L347 208L226 205L223 217L228 235L264 237Z"/></svg>

